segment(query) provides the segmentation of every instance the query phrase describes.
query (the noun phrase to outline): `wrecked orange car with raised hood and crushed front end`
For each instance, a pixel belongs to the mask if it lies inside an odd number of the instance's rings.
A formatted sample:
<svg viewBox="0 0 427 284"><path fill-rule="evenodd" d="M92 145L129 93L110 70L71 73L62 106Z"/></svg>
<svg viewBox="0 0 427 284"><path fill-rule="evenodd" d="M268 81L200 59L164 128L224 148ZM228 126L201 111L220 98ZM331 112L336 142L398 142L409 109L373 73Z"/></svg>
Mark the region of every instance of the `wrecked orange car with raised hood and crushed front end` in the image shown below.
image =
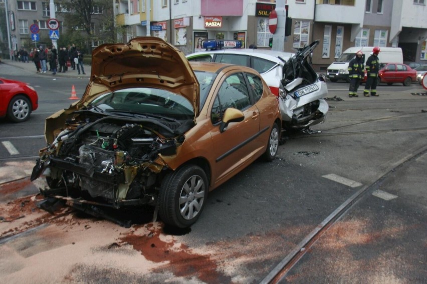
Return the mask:
<svg viewBox="0 0 427 284"><path fill-rule="evenodd" d="M157 206L188 227L218 187L260 156L273 160L281 114L252 68L187 61L158 37L103 44L82 98L46 120L32 180L45 196L121 208Z"/></svg>

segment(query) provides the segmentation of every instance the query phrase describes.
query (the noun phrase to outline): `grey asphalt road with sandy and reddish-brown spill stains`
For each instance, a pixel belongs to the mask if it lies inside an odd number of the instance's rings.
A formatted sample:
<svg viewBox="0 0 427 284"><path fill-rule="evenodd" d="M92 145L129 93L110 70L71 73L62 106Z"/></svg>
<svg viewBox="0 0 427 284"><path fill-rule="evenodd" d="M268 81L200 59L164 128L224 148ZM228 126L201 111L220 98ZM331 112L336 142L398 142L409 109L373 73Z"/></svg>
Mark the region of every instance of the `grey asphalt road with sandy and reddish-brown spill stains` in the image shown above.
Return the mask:
<svg viewBox="0 0 427 284"><path fill-rule="evenodd" d="M9 77L23 77L11 68ZM4 70L0 65L0 75ZM209 193L191 229L171 231L149 220L126 229L75 212L55 217L27 209L31 198L18 198L37 192L39 184L5 182L28 176L33 159L18 157L37 155L45 145L44 118L71 103L71 85L83 93L87 80L34 74L25 80L37 86L40 108L24 123L0 121L0 142L12 141L20 152L11 155L0 144L0 215L13 216L14 205L24 215L0 223L5 281L261 282L338 206L365 189L277 281L427 282L427 96L411 94L425 91L419 85L381 85L379 97L349 98L347 83L328 82L330 110L313 127L319 132L289 135L275 161L256 161ZM45 226L1 241L10 229L28 224Z"/></svg>

